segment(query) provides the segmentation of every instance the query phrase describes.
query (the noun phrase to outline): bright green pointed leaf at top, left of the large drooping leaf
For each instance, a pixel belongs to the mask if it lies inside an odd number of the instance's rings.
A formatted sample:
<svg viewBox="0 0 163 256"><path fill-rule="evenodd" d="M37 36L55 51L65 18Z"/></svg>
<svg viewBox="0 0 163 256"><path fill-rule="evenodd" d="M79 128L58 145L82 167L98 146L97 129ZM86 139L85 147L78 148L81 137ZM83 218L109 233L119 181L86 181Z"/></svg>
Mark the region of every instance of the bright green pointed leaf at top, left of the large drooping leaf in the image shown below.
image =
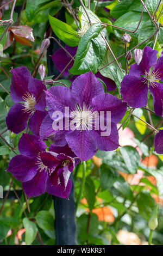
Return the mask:
<svg viewBox="0 0 163 256"><path fill-rule="evenodd" d="M55 35L58 36L65 44L77 46L79 44L78 32L71 26L49 15L49 22Z"/></svg>

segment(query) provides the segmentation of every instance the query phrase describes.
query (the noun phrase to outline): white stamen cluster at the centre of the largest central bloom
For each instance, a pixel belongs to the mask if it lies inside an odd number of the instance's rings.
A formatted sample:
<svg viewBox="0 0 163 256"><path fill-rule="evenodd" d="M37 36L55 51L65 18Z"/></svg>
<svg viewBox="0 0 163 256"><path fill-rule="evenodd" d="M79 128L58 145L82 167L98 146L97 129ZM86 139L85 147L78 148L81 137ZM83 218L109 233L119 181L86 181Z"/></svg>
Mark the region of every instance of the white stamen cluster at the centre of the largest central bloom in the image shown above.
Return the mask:
<svg viewBox="0 0 163 256"><path fill-rule="evenodd" d="M98 112L93 111L89 106L87 107L85 103L83 107L77 105L74 111L71 112L72 124L76 125L77 130L92 130L93 121L98 117Z"/></svg>

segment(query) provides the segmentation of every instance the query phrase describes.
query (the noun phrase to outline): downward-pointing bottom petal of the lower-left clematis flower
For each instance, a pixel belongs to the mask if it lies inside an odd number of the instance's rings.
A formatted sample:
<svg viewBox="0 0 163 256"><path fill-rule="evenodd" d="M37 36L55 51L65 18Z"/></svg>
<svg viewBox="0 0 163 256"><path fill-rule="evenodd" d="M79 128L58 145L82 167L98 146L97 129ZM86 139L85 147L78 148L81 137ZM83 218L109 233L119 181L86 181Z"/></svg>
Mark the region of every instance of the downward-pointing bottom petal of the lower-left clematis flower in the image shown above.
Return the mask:
<svg viewBox="0 0 163 256"><path fill-rule="evenodd" d="M37 172L32 180L23 182L23 190L28 197L38 197L46 192L48 175L46 172Z"/></svg>

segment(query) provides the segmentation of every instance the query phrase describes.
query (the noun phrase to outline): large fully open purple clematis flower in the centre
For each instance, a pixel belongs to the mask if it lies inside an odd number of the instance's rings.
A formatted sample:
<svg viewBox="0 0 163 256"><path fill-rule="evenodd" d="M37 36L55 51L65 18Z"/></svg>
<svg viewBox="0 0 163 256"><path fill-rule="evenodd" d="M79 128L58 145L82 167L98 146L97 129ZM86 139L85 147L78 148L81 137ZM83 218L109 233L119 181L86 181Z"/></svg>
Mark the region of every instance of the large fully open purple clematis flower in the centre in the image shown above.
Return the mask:
<svg viewBox="0 0 163 256"><path fill-rule="evenodd" d="M92 72L80 75L69 88L55 86L46 92L48 113L40 127L41 138L54 137L55 145L64 146L68 143L74 154L80 160L86 161L95 155L97 149L109 151L119 147L117 123L126 113L127 104L117 97L104 93L102 83ZM70 121L76 123L77 129L63 127L62 130L54 130L52 127L55 117L53 113L60 111L63 124L69 117L65 114L65 107L69 107L72 116ZM95 129L95 119L99 119L101 111L111 112L111 133L109 136L101 136L103 129ZM106 120L106 117L104 117ZM78 127L82 123L82 129ZM92 126L92 129L91 129Z"/></svg>

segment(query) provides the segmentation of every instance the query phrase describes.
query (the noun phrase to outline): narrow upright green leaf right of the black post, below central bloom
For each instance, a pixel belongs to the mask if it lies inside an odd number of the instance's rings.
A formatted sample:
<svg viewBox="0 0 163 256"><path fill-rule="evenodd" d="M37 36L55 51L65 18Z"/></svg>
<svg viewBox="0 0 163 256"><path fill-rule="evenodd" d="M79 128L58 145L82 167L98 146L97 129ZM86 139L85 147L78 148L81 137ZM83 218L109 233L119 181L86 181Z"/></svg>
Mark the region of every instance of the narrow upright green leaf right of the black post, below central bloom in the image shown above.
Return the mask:
<svg viewBox="0 0 163 256"><path fill-rule="evenodd" d="M95 185L90 176L87 176L85 179L85 197L89 205L90 212L93 210L93 206L95 204L95 196Z"/></svg>

